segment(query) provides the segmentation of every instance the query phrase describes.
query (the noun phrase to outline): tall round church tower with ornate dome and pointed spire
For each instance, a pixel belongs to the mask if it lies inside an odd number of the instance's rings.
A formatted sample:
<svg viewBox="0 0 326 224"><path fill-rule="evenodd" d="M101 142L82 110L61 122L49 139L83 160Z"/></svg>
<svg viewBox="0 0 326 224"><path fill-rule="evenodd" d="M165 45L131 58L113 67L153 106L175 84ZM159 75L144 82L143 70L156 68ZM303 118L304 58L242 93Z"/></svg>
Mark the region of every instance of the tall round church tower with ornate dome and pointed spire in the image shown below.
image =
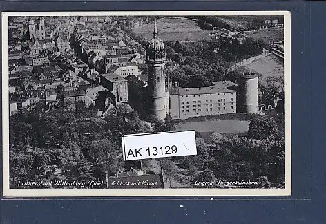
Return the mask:
<svg viewBox="0 0 326 224"><path fill-rule="evenodd" d="M166 55L163 41L157 37L156 18L153 39L146 48L146 64L148 66L148 95L149 113L155 118L164 120L166 117L166 97L165 90L165 62Z"/></svg>

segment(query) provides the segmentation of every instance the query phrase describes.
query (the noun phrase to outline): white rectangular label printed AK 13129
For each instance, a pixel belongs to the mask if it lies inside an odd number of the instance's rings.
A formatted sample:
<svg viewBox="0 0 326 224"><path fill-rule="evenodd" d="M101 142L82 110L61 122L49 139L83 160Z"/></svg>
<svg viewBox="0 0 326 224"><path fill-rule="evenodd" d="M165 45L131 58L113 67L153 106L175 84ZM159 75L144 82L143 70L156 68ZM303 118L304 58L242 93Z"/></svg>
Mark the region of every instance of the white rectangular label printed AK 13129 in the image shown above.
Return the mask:
<svg viewBox="0 0 326 224"><path fill-rule="evenodd" d="M124 160L197 155L195 131L122 136Z"/></svg>

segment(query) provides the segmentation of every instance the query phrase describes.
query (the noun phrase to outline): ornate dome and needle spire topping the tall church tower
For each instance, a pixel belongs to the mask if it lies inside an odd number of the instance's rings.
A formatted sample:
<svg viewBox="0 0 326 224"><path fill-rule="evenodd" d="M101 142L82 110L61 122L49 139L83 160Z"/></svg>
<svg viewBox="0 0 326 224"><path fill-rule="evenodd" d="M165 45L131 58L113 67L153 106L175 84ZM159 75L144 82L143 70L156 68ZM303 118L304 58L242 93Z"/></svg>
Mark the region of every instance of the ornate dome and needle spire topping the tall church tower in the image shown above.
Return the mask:
<svg viewBox="0 0 326 224"><path fill-rule="evenodd" d="M165 49L163 41L157 37L156 18L154 17L155 28L153 38L147 44L146 61L148 63L162 63L166 61Z"/></svg>

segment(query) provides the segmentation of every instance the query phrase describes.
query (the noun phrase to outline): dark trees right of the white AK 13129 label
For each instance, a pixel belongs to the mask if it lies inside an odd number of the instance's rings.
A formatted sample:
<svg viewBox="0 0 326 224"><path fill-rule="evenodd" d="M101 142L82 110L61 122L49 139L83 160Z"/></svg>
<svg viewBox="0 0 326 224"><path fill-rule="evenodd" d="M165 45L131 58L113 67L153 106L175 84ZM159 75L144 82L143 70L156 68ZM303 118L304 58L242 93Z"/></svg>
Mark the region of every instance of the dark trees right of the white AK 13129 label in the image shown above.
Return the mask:
<svg viewBox="0 0 326 224"><path fill-rule="evenodd" d="M258 181L246 187L284 187L284 138L272 118L253 119L247 136L213 133L210 140L204 140L199 134L196 146L196 156L160 160L167 181L171 182L182 168L183 175L196 188L217 187L196 184L213 180Z"/></svg>

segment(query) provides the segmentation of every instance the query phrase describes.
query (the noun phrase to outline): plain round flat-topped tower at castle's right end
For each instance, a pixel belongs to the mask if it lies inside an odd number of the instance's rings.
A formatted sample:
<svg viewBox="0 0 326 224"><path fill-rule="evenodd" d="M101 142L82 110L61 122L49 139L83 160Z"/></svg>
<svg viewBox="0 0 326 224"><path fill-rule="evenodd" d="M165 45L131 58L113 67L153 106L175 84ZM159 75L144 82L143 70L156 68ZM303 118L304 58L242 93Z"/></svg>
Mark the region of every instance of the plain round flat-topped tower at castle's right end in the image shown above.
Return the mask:
<svg viewBox="0 0 326 224"><path fill-rule="evenodd" d="M256 113L258 111L258 75L243 73L238 86L237 107L239 113Z"/></svg>

